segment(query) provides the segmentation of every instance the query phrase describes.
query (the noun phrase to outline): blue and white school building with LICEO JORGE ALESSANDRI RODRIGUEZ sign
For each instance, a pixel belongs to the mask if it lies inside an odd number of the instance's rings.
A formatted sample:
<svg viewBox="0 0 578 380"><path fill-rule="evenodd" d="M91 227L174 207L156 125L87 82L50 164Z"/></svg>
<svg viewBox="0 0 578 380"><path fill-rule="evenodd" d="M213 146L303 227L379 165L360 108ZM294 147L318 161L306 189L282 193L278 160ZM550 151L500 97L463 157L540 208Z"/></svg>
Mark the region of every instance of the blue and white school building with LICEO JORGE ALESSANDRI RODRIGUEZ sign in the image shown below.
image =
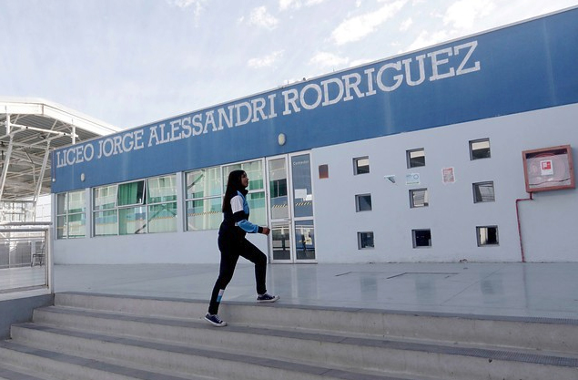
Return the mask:
<svg viewBox="0 0 578 380"><path fill-rule="evenodd" d="M578 7L52 153L55 262L576 262Z"/></svg>

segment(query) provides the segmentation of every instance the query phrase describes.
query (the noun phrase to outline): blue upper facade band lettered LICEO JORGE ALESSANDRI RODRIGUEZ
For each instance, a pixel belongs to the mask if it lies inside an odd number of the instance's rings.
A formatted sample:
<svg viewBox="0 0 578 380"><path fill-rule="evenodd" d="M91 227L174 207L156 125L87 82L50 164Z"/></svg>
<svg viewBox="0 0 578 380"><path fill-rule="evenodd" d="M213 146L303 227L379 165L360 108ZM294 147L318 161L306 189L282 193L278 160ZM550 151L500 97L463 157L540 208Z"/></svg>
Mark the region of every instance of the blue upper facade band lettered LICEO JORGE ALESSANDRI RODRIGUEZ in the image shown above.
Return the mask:
<svg viewBox="0 0 578 380"><path fill-rule="evenodd" d="M52 191L577 103L576 41L573 8L57 149Z"/></svg>

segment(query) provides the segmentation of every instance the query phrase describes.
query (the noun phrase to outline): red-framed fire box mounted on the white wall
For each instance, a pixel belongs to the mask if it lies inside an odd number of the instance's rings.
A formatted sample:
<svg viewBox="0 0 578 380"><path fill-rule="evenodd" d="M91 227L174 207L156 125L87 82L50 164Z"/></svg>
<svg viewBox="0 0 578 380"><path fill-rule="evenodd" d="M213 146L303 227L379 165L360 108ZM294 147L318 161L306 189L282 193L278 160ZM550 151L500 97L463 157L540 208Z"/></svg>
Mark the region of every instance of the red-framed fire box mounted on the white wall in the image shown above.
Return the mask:
<svg viewBox="0 0 578 380"><path fill-rule="evenodd" d="M570 145L524 150L522 158L527 192L575 188Z"/></svg>

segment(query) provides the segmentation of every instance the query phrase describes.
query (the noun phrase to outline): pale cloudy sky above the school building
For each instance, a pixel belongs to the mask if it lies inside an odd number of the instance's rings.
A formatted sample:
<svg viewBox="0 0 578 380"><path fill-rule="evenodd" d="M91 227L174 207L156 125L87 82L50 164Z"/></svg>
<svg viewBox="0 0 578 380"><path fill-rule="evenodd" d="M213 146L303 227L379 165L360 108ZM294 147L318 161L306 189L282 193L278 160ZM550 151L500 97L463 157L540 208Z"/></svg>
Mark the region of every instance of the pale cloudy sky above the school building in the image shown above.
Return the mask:
<svg viewBox="0 0 578 380"><path fill-rule="evenodd" d="M0 0L0 97L134 128L578 0Z"/></svg>

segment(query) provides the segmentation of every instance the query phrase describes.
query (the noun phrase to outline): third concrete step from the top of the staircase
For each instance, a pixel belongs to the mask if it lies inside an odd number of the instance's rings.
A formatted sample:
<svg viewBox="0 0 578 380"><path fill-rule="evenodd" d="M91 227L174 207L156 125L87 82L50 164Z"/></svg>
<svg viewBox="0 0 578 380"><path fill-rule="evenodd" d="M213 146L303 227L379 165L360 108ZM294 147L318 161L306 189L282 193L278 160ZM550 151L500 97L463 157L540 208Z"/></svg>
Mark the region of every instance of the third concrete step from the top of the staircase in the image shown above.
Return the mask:
<svg viewBox="0 0 578 380"><path fill-rule="evenodd" d="M243 354L237 350L209 350L190 344L168 344L118 335L85 333L42 324L21 324L13 329L14 340L18 344L34 344L35 347L42 347L42 350L55 351L58 355L82 353L84 360L98 358L99 363L106 366L130 363L137 368L146 365L158 371L170 369L177 374L200 373L218 379L235 380L417 380L415 377L393 377L362 369L354 371L327 365L304 365L295 361Z"/></svg>

